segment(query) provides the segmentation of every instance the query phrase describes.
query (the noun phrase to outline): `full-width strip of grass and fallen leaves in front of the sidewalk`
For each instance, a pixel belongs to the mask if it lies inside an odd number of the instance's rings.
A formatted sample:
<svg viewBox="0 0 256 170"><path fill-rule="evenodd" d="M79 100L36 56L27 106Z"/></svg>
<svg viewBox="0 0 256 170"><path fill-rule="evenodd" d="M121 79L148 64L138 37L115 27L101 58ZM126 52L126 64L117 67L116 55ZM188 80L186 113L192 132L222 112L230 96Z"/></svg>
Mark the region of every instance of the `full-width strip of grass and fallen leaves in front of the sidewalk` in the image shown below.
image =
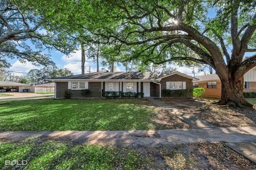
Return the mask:
<svg viewBox="0 0 256 170"><path fill-rule="evenodd" d="M14 147L4 148L6 145ZM26 151L22 148L27 148ZM256 165L223 143L109 147L77 145L46 137L1 143L0 159L27 160L17 169L255 169ZM6 151L7 150L7 151ZM18 152L23 153L22 155ZM10 154L12 153L12 154ZM13 166L5 166L3 169Z"/></svg>

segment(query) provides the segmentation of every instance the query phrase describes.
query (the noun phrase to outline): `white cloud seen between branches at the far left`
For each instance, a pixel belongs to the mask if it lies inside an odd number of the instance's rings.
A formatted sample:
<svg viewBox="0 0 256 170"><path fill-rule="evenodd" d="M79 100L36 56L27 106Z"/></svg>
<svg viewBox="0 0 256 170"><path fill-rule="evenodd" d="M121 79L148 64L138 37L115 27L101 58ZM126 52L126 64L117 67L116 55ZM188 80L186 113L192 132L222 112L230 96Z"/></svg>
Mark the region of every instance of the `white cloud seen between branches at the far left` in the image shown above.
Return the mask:
<svg viewBox="0 0 256 170"><path fill-rule="evenodd" d="M10 67L10 70L17 71L17 72L29 72L32 69L40 69L40 67L33 65L30 62L21 63L20 61L15 61L12 66ZM15 75L21 75L22 73L15 73Z"/></svg>

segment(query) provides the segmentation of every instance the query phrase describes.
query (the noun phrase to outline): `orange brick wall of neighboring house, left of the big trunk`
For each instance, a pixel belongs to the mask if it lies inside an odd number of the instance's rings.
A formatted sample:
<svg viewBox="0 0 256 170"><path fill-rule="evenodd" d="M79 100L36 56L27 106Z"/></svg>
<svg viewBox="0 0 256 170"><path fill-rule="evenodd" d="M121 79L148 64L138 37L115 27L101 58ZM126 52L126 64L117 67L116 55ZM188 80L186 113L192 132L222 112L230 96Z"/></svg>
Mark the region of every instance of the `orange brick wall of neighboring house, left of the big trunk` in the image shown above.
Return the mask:
<svg viewBox="0 0 256 170"><path fill-rule="evenodd" d="M209 81L210 82L210 81ZM221 97L221 82L217 81L217 88L207 88L207 82L199 82L198 87L204 88L204 97Z"/></svg>

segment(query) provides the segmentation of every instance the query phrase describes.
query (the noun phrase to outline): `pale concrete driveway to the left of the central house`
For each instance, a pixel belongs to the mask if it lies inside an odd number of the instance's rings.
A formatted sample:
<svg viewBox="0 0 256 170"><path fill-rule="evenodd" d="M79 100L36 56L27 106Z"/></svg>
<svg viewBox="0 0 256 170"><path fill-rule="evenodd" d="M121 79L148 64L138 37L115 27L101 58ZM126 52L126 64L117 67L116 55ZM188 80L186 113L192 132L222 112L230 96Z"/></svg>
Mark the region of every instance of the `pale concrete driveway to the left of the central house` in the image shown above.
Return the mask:
<svg viewBox="0 0 256 170"><path fill-rule="evenodd" d="M13 95L13 96L0 96L0 100L12 100L12 99L43 99L53 98L54 94L34 94L30 92L2 92L1 94Z"/></svg>

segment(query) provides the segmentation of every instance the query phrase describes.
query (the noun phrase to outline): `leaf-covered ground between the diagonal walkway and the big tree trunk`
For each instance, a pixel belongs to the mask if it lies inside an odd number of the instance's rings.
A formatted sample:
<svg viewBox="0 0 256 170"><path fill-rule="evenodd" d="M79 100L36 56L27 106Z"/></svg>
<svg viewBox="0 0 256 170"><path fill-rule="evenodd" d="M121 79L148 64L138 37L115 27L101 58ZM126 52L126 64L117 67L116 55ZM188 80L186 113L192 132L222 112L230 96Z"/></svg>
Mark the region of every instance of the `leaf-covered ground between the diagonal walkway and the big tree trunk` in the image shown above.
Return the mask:
<svg viewBox="0 0 256 170"><path fill-rule="evenodd" d="M254 109L232 108L212 104L214 100L210 99L162 99L162 101L218 127L256 126L255 106Z"/></svg>

